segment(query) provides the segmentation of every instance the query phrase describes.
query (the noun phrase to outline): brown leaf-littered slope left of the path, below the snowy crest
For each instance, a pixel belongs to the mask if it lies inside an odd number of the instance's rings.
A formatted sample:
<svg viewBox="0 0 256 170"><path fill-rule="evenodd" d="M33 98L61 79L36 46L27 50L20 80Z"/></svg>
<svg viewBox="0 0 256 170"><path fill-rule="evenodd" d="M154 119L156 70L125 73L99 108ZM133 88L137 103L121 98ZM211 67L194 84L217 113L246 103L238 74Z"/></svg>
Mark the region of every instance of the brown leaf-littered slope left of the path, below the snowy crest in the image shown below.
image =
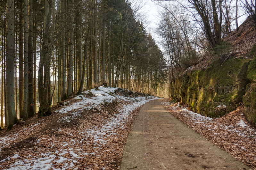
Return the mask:
<svg viewBox="0 0 256 170"><path fill-rule="evenodd" d="M124 101L115 105L104 103L101 109L84 110L84 114L66 123L58 120L69 117L68 112L39 119L34 117L7 134L2 131L1 140L10 140L6 144L0 143L0 169L119 169L133 116L138 109L120 122L119 127L110 127L111 130L99 139L88 134L105 126L104 123L117 116L118 110L127 104Z"/></svg>

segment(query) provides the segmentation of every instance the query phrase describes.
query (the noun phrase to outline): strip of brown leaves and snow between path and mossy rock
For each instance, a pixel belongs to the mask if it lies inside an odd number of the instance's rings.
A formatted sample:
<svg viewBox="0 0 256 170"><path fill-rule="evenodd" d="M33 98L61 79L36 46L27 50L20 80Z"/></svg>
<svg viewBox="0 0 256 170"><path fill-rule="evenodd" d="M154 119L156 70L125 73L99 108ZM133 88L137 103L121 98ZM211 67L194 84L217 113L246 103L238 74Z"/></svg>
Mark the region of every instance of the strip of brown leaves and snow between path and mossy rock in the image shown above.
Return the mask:
<svg viewBox="0 0 256 170"><path fill-rule="evenodd" d="M162 101L162 105L181 122L246 165L256 169L256 129L245 120L243 106L212 119L188 110L186 105Z"/></svg>

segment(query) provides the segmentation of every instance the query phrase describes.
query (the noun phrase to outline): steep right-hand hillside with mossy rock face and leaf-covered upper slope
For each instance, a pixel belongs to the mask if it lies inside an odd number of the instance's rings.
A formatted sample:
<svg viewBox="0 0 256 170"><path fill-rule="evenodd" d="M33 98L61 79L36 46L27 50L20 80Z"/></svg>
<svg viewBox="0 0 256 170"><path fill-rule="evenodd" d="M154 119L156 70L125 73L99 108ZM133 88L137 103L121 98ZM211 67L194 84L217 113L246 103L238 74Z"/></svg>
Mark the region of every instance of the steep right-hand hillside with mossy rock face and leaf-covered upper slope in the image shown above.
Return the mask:
<svg viewBox="0 0 256 170"><path fill-rule="evenodd" d="M255 35L256 25L247 19L221 46L170 83L171 97L212 118L231 112L244 102L246 119L255 126Z"/></svg>

